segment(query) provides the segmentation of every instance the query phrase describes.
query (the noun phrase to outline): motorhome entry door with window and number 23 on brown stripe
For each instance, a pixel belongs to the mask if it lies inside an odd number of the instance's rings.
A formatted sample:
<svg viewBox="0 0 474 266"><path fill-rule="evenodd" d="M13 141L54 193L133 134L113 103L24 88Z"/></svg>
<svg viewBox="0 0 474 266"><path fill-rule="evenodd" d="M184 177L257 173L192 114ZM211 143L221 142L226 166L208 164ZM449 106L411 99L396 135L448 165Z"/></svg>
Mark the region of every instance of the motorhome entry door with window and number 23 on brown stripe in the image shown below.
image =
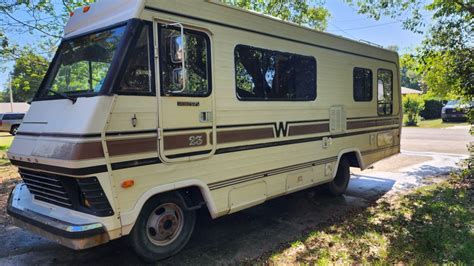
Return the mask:
<svg viewBox="0 0 474 266"><path fill-rule="evenodd" d="M216 145L210 37L158 21L154 34L160 157L166 162L209 157Z"/></svg>

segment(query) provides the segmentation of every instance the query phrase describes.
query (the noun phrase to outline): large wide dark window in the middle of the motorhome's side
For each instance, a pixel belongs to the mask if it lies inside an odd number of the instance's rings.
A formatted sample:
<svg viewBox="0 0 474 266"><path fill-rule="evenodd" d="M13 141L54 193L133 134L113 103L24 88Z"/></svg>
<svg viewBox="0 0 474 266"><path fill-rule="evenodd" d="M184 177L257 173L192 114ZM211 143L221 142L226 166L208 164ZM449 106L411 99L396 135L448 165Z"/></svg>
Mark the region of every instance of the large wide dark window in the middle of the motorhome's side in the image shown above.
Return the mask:
<svg viewBox="0 0 474 266"><path fill-rule="evenodd" d="M235 48L239 100L313 101L316 99L314 57L245 45Z"/></svg>

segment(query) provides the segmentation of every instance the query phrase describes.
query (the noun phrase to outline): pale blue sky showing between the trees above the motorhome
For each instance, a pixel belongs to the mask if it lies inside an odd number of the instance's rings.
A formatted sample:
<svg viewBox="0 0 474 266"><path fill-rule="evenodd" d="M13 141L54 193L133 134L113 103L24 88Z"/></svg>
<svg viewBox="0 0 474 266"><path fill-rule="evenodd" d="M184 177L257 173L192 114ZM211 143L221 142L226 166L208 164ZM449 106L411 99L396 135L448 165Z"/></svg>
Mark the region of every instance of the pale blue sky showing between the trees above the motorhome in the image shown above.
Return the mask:
<svg viewBox="0 0 474 266"><path fill-rule="evenodd" d="M399 53L409 53L418 46L423 35L403 30L402 23L391 18L381 18L379 21L357 14L357 11L344 3L343 0L326 0L326 7L331 13L327 32L354 40L368 41L381 46L397 45ZM10 36L16 42L35 43L35 36ZM0 90L6 89L8 75L12 64L7 65L6 71L0 72Z"/></svg>

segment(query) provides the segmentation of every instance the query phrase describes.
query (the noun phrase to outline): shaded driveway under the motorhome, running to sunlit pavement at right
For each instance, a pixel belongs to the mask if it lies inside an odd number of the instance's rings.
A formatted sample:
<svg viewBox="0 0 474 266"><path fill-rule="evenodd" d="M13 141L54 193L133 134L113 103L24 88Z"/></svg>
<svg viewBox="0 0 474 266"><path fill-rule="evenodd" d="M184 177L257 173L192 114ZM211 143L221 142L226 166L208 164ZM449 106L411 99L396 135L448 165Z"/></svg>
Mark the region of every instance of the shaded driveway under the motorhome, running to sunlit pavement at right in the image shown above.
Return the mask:
<svg viewBox="0 0 474 266"><path fill-rule="evenodd" d="M255 259L312 228L365 208L374 200L433 182L466 157L467 128L404 129L402 150L363 172L353 171L347 194L330 198L309 189L217 220L201 213L187 248L163 264L229 264ZM0 265L139 264L125 240L71 251L13 226L0 234Z"/></svg>

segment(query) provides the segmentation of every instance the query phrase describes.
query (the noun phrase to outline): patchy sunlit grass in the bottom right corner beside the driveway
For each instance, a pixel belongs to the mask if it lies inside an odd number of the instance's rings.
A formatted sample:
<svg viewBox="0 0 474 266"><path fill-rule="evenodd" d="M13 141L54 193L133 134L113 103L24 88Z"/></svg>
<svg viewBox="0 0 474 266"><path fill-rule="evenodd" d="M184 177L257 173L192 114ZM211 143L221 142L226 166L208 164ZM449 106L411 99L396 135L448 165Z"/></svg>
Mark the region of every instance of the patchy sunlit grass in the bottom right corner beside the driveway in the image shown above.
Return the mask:
<svg viewBox="0 0 474 266"><path fill-rule="evenodd" d="M474 264L474 190L453 177L311 232L269 264Z"/></svg>

